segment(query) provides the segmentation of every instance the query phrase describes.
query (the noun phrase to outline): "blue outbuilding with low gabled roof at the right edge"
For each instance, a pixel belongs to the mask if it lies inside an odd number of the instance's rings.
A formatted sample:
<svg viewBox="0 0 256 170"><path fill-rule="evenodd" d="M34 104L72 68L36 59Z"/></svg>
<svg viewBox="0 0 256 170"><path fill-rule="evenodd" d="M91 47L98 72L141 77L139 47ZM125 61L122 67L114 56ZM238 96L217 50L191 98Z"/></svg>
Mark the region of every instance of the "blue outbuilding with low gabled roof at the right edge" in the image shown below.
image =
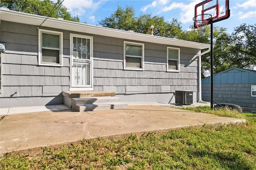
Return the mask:
<svg viewBox="0 0 256 170"><path fill-rule="evenodd" d="M213 77L213 99L240 107L256 108L256 71L230 68ZM210 77L202 79L202 100L210 101Z"/></svg>

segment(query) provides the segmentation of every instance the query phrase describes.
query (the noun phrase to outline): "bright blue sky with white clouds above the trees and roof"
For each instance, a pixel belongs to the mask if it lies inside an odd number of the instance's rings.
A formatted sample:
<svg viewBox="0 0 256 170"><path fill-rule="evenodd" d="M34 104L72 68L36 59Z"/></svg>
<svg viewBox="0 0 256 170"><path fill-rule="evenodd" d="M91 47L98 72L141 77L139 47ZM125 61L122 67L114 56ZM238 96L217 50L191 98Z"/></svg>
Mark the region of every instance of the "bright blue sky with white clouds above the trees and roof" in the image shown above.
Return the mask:
<svg viewBox="0 0 256 170"><path fill-rule="evenodd" d="M57 0L54 0L57 2ZM110 17L118 6L125 8L132 6L136 16L152 14L164 16L166 22L172 18L181 22L182 30L188 30L193 25L194 7L204 0L64 0L62 4L69 9L72 16L78 15L80 22L99 25L98 22ZM210 3L216 3L213 0ZM219 0L220 13L225 9L225 0ZM211 4L210 4L211 6ZM230 18L215 22L214 26L227 28L233 32L234 28L243 23L256 23L256 0L230 0ZM208 13L211 11L209 10ZM214 11L213 11L214 14ZM149 26L150 27L150 26Z"/></svg>

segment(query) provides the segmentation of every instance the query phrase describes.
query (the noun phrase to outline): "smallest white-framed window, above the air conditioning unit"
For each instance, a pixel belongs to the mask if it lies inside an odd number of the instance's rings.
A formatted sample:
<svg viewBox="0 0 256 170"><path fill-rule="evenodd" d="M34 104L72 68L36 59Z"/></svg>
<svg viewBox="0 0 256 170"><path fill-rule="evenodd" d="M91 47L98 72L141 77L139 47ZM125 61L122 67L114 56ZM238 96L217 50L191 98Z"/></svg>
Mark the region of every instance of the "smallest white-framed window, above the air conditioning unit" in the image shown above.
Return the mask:
<svg viewBox="0 0 256 170"><path fill-rule="evenodd" d="M167 47L167 71L180 71L180 49Z"/></svg>

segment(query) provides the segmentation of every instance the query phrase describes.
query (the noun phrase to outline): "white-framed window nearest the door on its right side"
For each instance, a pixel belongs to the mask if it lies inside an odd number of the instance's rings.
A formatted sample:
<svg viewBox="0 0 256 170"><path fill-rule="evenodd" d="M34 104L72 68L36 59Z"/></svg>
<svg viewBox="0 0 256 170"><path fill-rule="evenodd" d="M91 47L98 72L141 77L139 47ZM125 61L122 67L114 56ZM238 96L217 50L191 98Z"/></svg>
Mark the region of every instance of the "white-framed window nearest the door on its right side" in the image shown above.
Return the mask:
<svg viewBox="0 0 256 170"><path fill-rule="evenodd" d="M144 68L144 43L124 42L124 69Z"/></svg>

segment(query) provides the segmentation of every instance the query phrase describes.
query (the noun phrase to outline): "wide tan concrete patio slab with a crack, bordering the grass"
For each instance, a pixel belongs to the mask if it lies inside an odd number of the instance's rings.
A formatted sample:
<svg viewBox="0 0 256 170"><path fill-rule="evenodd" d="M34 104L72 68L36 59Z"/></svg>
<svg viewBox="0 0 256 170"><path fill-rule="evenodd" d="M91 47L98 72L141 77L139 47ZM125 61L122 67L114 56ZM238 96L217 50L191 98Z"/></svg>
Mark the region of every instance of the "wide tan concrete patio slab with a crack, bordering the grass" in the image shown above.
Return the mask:
<svg viewBox="0 0 256 170"><path fill-rule="evenodd" d="M20 150L35 153L44 146L58 147L84 138L122 137L131 133L140 135L179 127L242 122L245 120L148 105L87 112L12 114L0 121L0 155Z"/></svg>

